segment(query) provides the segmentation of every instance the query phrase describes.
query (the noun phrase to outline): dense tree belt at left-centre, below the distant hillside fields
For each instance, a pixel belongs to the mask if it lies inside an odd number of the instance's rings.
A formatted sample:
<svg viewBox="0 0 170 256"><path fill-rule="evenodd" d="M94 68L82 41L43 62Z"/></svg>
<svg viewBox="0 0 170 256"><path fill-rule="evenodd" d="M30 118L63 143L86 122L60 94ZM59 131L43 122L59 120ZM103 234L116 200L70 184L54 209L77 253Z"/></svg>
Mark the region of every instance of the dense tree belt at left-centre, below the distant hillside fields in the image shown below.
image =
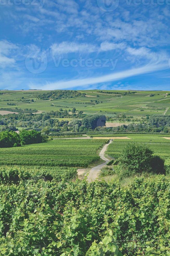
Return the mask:
<svg viewBox="0 0 170 256"><path fill-rule="evenodd" d="M71 112L71 113L70 113ZM59 121L57 118L73 118ZM102 121L103 120L103 121ZM42 131L46 134L50 132L86 132L94 130L97 126L104 126L106 117L104 115L83 114L83 111L76 111L76 108L60 111L50 111L41 114L7 114L0 115L0 131L16 131L16 127L32 128L36 131Z"/></svg>

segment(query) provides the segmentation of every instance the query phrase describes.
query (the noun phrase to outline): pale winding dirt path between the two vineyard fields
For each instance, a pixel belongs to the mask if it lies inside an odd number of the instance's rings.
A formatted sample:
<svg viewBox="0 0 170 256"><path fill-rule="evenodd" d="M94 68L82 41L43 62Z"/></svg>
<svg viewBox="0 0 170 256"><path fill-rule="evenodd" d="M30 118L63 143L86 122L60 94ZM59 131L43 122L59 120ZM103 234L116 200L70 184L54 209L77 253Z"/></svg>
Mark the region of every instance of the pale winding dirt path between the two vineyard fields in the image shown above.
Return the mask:
<svg viewBox="0 0 170 256"><path fill-rule="evenodd" d="M101 171L101 168L102 168L104 165L106 165L106 164L110 161L109 159L107 159L107 158L104 156L104 153L105 153L105 151L107 150L107 147L108 147L108 145L109 145L110 143L112 143L112 140L110 140L108 144L104 145L104 147L102 148L102 150L100 151L100 154L99 154L100 158L101 158L102 160L104 160L105 162L104 162L103 164L100 164L100 165L97 165L97 166L91 168L91 170L89 171L89 174L88 174L88 176L87 176L87 181L88 181L88 182L94 181L94 180L98 177L99 172Z"/></svg>

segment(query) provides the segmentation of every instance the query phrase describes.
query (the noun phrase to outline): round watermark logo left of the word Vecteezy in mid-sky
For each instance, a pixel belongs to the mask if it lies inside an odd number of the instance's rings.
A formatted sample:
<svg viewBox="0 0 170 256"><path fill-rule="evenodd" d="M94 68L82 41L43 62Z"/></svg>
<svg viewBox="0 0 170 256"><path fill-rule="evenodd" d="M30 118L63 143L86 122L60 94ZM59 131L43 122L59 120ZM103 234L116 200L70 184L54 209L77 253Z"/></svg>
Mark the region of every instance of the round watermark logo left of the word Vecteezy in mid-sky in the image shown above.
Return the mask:
<svg viewBox="0 0 170 256"><path fill-rule="evenodd" d="M25 59L25 67L33 74L40 74L47 68L47 55L43 51L34 51Z"/></svg>

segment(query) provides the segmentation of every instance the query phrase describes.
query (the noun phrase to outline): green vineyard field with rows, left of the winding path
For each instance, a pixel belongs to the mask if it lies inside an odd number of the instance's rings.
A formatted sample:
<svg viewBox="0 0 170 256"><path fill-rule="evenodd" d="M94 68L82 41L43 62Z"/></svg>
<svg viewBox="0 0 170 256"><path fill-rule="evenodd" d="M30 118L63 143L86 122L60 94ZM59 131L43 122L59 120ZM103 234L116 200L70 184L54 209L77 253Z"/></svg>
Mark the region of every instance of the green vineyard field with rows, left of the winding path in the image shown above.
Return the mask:
<svg viewBox="0 0 170 256"><path fill-rule="evenodd" d="M97 150L108 139L56 139L0 149L1 165L87 167L100 160Z"/></svg>

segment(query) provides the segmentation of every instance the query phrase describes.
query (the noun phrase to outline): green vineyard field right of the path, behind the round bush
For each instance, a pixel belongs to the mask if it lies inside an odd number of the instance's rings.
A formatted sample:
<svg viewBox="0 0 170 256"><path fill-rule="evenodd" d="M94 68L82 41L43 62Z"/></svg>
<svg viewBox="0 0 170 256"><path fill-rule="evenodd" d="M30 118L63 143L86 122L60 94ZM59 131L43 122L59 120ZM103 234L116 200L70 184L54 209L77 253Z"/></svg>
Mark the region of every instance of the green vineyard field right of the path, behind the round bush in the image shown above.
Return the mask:
<svg viewBox="0 0 170 256"><path fill-rule="evenodd" d="M102 135L104 136L104 135ZM125 148L127 143L137 142L144 143L149 146L154 151L155 155L159 155L165 159L167 164L170 164L170 139L165 139L168 137L165 135L149 135L149 134L119 134L116 136L127 136L130 139L114 139L112 144L109 145L107 154L113 158L118 158Z"/></svg>

